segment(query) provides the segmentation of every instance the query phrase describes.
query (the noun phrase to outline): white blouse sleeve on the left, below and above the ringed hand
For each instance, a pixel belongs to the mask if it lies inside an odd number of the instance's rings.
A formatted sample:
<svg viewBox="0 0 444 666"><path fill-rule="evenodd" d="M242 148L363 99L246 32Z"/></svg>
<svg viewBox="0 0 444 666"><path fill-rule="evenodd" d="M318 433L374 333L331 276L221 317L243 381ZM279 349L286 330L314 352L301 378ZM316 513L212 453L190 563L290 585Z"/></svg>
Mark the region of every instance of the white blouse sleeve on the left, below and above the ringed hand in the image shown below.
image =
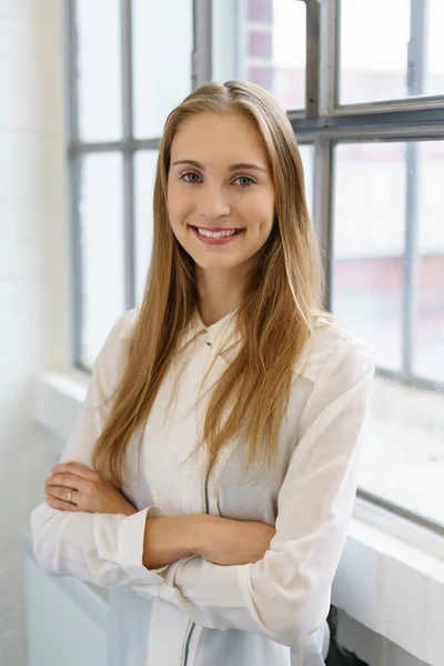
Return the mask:
<svg viewBox="0 0 444 666"><path fill-rule="evenodd" d="M121 315L108 335L92 370L82 406L60 462L73 461L92 467L91 454L102 432L109 404L105 398L117 385L125 355L125 332L135 309ZM155 506L131 516L61 512L46 502L31 512L33 552L48 574L75 576L103 587L147 585L147 594L157 596L163 578L160 569L142 565L147 517L159 515Z"/></svg>

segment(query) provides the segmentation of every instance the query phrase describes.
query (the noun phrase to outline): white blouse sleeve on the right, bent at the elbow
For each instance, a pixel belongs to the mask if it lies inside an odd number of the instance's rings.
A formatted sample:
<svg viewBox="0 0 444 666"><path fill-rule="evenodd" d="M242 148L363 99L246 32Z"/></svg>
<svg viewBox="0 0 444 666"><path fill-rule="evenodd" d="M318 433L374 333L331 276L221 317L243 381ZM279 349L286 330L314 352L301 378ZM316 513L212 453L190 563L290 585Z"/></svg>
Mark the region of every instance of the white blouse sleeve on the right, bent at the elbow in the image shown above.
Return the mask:
<svg viewBox="0 0 444 666"><path fill-rule="evenodd" d="M263 559L219 566L171 563L160 598L210 628L252 632L296 647L325 622L357 487L359 435L374 365L346 342L319 373L278 497L276 534ZM145 594L145 586L134 587Z"/></svg>

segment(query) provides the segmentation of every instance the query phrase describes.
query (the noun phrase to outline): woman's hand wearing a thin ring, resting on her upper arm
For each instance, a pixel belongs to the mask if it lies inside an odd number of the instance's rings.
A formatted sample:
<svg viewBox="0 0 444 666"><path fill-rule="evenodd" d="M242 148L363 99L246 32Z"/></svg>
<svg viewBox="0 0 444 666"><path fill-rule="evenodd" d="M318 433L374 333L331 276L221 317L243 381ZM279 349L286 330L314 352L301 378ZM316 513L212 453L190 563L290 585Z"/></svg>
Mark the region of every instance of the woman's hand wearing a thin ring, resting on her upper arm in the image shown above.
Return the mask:
<svg viewBox="0 0 444 666"><path fill-rule="evenodd" d="M47 503L59 511L127 516L138 513L109 481L80 463L57 465L44 485Z"/></svg>

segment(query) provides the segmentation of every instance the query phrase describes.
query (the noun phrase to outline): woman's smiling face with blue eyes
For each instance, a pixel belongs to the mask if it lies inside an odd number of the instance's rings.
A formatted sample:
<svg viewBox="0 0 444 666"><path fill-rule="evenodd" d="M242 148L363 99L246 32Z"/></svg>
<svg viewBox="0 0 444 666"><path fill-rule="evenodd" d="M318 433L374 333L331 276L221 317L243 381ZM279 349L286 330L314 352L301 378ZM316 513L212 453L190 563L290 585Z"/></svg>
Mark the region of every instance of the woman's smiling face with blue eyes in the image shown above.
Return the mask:
<svg viewBox="0 0 444 666"><path fill-rule="evenodd" d="M274 186L252 121L202 113L181 125L171 147L168 211L175 238L201 269L250 264L274 220ZM222 230L235 233L209 238Z"/></svg>

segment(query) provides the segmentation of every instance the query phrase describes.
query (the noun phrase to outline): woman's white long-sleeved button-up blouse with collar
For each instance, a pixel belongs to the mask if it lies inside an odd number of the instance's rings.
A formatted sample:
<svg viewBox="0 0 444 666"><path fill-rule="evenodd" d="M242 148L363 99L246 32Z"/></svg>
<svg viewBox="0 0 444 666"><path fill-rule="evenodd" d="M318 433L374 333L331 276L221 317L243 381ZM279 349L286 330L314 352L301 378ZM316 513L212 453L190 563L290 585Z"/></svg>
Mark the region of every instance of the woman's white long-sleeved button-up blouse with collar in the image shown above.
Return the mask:
<svg viewBox="0 0 444 666"><path fill-rule="evenodd" d="M103 401L121 376L138 315L139 309L130 310L112 327L61 462L91 466L109 412ZM123 490L137 514L59 512L47 503L32 511L33 551L48 574L111 588L112 666L323 664L314 638L325 625L350 527L374 364L340 322L319 320L312 346L294 367L276 465L244 483L245 446L238 438L222 450L205 483L203 447L189 456L208 389L239 351L234 321L235 311L205 326L196 314L183 333L150 416L128 450ZM169 404L180 372L176 400ZM202 380L203 397L195 404ZM147 569L147 517L200 513L261 521L276 534L255 564L220 566L191 556ZM317 660L310 660L312 653Z"/></svg>

